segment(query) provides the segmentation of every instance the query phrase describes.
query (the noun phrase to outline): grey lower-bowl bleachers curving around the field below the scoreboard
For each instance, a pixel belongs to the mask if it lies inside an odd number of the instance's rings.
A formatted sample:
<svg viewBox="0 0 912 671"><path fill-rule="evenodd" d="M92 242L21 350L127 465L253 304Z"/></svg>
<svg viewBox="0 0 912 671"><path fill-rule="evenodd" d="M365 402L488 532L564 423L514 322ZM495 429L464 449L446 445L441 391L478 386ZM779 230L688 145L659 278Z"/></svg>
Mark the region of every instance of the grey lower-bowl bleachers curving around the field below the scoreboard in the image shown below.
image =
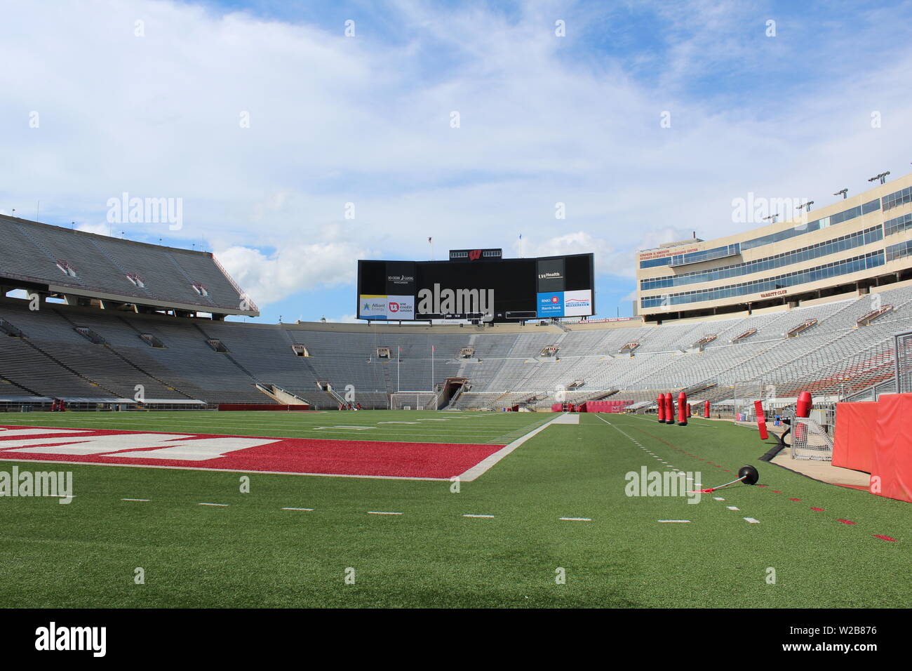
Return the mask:
<svg viewBox="0 0 912 671"><path fill-rule="evenodd" d="M40 242L53 248L51 237ZM92 277L87 272L86 281ZM612 400L648 401L658 392L693 386L700 387L691 395L695 401L769 387L782 398L808 387L842 397L889 378L892 335L912 325L912 288L887 288L880 300L894 309L860 327L856 321L871 311L870 296L660 326L415 332L175 318L55 303L33 311L26 300L0 299L0 319L23 334L0 336L0 398L112 403L134 398L141 385L147 400L162 404L271 403L256 388L261 383L278 385L316 408L335 408L352 385L363 407L387 407L389 393L440 389L450 377L470 385L455 408L544 409L558 397L575 402L615 390ZM786 337L806 320L817 324ZM87 340L77 328L102 342ZM753 329L750 338L731 342ZM691 347L710 334L717 337L701 349ZM143 335L163 347L150 346ZM214 351L207 342L213 339L225 351ZM637 349L620 353L631 341L639 343ZM296 356L295 344L304 345L308 356ZM542 356L552 346L556 354ZM461 358L464 347L474 348L472 357ZM378 348L389 348L389 358L378 358ZM562 391L575 381L582 383Z"/></svg>

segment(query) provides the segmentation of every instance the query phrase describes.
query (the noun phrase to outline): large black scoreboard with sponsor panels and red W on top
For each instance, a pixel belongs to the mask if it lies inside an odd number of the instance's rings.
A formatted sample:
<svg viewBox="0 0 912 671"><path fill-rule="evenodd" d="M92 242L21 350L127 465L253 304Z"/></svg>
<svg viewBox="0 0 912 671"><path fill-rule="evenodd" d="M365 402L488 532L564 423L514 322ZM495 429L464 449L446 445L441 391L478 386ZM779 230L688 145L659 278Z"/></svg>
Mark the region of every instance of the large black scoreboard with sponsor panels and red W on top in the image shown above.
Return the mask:
<svg viewBox="0 0 912 671"><path fill-rule="evenodd" d="M448 261L358 261L358 319L496 322L596 313L594 257L503 258L452 251Z"/></svg>

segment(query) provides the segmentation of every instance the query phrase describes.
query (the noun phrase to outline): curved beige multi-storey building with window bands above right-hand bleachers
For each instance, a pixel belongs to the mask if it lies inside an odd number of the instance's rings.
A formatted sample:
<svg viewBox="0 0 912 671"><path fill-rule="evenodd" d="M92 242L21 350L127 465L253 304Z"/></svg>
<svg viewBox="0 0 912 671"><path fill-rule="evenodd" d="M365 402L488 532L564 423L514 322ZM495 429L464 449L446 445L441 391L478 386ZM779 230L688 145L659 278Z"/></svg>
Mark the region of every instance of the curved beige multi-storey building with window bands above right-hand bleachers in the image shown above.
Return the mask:
<svg viewBox="0 0 912 671"><path fill-rule="evenodd" d="M912 174L814 210L748 194L732 202L732 226L798 207L787 221L641 251L638 313L650 322L751 314L912 278Z"/></svg>

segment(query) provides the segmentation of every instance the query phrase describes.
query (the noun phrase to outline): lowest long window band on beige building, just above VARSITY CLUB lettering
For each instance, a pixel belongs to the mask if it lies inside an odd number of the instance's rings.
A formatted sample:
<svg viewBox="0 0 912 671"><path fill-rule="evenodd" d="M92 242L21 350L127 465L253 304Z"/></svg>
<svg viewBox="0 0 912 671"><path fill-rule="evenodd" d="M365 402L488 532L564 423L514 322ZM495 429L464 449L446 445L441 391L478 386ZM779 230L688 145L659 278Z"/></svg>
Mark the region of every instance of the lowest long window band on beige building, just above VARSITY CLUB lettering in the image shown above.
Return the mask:
<svg viewBox="0 0 912 671"><path fill-rule="evenodd" d="M686 305L688 303L698 303L704 300L719 300L736 298L738 296L748 296L763 291L774 291L776 289L794 287L800 284L815 282L820 279L848 275L868 268L883 266L884 263L884 250L880 249L876 252L845 258L841 261L834 261L833 263L828 263L823 266L796 270L795 272L778 275L773 278L756 279L752 282L742 282L741 284L732 284L726 287L706 288L677 294L665 294L664 296L648 296L640 299L640 305L642 308L648 309L672 305Z"/></svg>

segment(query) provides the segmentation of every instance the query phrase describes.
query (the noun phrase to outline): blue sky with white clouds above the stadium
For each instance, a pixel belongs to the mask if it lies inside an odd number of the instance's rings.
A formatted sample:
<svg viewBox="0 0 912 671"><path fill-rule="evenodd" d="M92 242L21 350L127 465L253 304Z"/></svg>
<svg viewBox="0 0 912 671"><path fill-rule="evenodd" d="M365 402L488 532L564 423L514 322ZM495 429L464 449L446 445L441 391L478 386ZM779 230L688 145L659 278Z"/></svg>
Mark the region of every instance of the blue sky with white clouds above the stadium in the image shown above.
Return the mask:
<svg viewBox="0 0 912 671"><path fill-rule="evenodd" d="M732 199L819 207L909 171L910 19L908 2L14 2L0 212L40 201L47 223L212 250L265 321L351 320L357 258L429 258L428 236L438 258L518 256L520 233L524 256L595 252L600 316L628 315L635 251L752 227ZM180 198L181 229L109 225L124 192Z"/></svg>

